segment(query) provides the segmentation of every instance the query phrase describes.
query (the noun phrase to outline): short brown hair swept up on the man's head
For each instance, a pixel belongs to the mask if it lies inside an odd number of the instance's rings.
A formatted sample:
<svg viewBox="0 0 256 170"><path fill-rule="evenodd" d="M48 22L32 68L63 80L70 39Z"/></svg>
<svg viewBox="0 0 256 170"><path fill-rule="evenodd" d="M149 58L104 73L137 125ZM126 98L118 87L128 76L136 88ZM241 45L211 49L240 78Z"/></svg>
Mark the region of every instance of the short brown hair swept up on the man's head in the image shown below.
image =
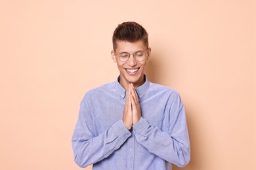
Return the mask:
<svg viewBox="0 0 256 170"><path fill-rule="evenodd" d="M146 29L144 29L144 27L137 22L123 22L122 24L119 24L116 27L112 37L114 50L117 48L117 40L128 42L142 40L145 46L148 48L148 33L146 32Z"/></svg>

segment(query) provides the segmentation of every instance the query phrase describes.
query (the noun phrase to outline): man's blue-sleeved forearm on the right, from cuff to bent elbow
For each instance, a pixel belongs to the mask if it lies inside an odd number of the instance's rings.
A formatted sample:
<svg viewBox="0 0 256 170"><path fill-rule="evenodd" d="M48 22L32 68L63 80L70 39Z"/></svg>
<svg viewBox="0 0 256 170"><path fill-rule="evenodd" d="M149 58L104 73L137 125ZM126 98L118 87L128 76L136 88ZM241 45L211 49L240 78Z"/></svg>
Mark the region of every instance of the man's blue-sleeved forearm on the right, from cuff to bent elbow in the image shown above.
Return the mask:
<svg viewBox="0 0 256 170"><path fill-rule="evenodd" d="M179 135L169 135L158 127L150 125L144 118L133 125L137 141L149 152L179 167L190 161L190 144L187 129L181 129Z"/></svg>

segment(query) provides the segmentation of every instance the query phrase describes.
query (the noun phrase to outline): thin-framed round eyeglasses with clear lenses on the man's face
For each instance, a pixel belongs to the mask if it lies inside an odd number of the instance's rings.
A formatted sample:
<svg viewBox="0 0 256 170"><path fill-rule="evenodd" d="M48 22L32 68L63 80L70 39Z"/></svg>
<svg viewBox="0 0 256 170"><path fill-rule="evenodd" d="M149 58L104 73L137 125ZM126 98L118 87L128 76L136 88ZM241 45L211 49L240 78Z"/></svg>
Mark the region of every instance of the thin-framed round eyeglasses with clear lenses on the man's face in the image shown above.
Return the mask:
<svg viewBox="0 0 256 170"><path fill-rule="evenodd" d="M116 56L119 58L121 62L126 62L128 61L131 55L133 55L133 58L135 58L137 61L143 61L146 58L146 56L148 56L148 52L139 51L133 54L129 54L128 52L121 52Z"/></svg>

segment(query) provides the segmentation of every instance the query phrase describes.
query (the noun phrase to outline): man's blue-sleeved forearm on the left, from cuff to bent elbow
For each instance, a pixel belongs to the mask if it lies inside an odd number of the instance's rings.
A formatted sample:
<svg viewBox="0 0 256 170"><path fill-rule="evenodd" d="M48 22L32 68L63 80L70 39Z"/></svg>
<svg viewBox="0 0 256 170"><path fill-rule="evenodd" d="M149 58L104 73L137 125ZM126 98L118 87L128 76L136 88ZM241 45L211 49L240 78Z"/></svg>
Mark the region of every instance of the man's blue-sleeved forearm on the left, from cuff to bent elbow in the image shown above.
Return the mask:
<svg viewBox="0 0 256 170"><path fill-rule="evenodd" d="M80 167L87 167L107 158L131 136L130 131L123 125L122 120L119 120L96 137L89 136L87 135L88 133L81 135L78 132L81 132L79 127L74 131L72 146L75 162Z"/></svg>

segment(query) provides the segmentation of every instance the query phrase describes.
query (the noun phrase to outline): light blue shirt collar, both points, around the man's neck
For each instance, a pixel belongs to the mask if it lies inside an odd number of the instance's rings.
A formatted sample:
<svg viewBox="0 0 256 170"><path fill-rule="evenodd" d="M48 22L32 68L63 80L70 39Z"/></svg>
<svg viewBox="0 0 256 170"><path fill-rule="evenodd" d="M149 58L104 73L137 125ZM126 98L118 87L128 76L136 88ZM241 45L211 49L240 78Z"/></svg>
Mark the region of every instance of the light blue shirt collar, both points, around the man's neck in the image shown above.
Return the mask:
<svg viewBox="0 0 256 170"><path fill-rule="evenodd" d="M120 76L118 76L116 80L116 90L119 93L119 95L121 95L121 98L124 99L126 95L126 90L121 86L121 84L119 83L119 80L120 80ZM146 78L146 75L144 75L144 80L145 80L144 84L142 84L141 86L135 89L139 99L142 99L142 97L145 95L149 87L149 82L148 82L148 78Z"/></svg>

